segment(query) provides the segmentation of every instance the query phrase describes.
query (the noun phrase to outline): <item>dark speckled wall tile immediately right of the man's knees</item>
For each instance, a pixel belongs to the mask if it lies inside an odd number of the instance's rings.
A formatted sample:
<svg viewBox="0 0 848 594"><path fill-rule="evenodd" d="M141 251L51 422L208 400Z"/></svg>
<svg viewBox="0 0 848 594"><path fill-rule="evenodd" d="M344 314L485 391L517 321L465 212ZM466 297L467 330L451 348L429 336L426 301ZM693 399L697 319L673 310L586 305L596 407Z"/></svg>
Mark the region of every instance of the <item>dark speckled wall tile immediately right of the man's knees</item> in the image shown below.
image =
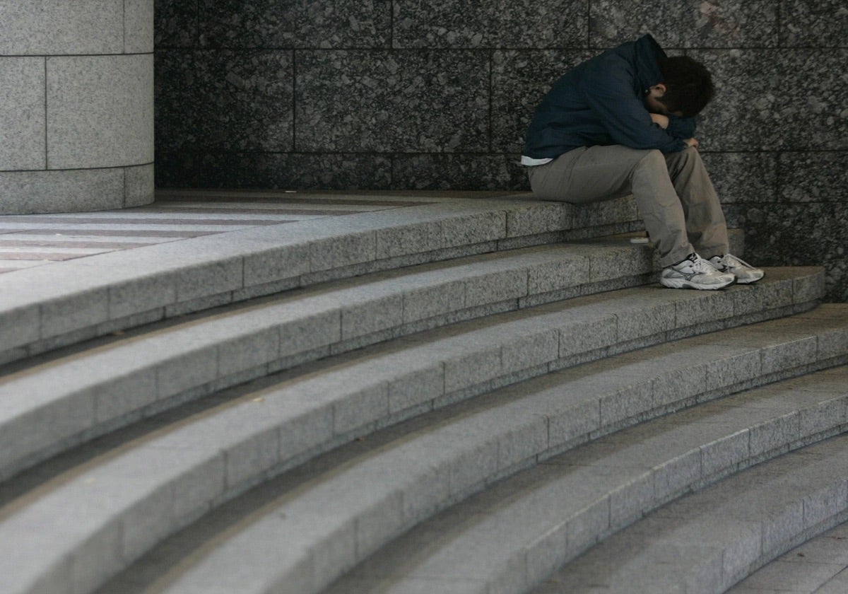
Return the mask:
<svg viewBox="0 0 848 594"><path fill-rule="evenodd" d="M774 153L706 153L701 157L722 204L773 202L777 198Z"/></svg>

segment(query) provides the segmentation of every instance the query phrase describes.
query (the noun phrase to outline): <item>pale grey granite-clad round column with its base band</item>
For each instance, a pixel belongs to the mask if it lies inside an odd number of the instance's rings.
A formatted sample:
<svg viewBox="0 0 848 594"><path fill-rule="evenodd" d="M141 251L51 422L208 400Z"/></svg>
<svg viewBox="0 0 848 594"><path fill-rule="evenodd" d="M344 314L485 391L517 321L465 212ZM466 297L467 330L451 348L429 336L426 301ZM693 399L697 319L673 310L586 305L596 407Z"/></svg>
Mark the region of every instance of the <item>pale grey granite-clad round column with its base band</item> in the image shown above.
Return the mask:
<svg viewBox="0 0 848 594"><path fill-rule="evenodd" d="M0 214L153 202L153 0L0 0Z"/></svg>

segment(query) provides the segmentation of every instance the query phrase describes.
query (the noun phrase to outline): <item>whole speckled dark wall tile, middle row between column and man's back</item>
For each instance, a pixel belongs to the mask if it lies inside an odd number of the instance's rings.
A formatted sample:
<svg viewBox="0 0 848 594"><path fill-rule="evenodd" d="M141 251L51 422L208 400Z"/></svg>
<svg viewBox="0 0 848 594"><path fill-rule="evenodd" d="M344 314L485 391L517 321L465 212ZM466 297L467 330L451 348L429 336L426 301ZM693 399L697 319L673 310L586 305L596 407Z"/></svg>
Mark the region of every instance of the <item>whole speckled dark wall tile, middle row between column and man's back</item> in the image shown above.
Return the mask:
<svg viewBox="0 0 848 594"><path fill-rule="evenodd" d="M297 53L296 148L488 152L488 53Z"/></svg>

